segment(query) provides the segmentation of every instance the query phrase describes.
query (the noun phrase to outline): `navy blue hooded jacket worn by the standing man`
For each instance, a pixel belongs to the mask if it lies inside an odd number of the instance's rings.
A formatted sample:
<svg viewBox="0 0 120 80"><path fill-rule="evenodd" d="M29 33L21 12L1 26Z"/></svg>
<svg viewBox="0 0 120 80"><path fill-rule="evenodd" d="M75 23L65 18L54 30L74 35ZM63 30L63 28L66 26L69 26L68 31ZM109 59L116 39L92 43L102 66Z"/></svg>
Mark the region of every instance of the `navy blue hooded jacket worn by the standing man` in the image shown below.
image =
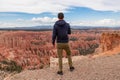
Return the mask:
<svg viewBox="0 0 120 80"><path fill-rule="evenodd" d="M71 34L70 25L64 20L56 21L53 28L52 44L55 44L57 38L57 43L68 43L68 34Z"/></svg>

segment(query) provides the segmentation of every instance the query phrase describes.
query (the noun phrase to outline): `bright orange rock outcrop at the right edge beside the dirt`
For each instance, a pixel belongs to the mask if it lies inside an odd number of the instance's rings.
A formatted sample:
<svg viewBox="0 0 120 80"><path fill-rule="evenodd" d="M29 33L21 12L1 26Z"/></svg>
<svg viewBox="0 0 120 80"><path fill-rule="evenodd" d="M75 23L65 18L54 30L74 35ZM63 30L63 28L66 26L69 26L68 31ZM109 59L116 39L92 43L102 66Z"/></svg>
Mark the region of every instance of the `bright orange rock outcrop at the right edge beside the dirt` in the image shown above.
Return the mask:
<svg viewBox="0 0 120 80"><path fill-rule="evenodd" d="M108 32L102 33L100 38L100 47L102 51L112 50L120 44L120 35L119 33Z"/></svg>

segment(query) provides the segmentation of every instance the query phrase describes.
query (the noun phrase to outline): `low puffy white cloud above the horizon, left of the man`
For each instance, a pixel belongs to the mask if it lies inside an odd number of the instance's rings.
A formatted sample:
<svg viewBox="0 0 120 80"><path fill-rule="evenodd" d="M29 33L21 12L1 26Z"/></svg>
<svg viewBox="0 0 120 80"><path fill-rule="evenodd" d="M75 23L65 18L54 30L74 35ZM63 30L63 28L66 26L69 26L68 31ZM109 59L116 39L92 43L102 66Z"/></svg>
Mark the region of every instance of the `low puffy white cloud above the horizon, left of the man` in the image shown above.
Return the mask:
<svg viewBox="0 0 120 80"><path fill-rule="evenodd" d="M53 17L33 17L30 20L24 20L21 18L16 19L14 22L0 22L0 28L10 27L31 27L31 26L42 26L42 25L53 25L57 18Z"/></svg>

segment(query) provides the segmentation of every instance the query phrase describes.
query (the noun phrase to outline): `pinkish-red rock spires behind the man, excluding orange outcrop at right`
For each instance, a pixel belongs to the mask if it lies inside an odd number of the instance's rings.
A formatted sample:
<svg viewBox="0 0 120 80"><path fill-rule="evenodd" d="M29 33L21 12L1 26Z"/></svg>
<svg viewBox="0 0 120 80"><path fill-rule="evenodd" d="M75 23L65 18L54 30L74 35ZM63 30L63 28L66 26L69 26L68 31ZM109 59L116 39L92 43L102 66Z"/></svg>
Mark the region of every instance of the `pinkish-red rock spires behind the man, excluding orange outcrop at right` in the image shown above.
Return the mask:
<svg viewBox="0 0 120 80"><path fill-rule="evenodd" d="M91 34L90 34L91 33ZM57 57L51 44L51 31L4 31L0 32L0 61L15 61L23 69L36 69L49 65L50 56ZM95 40L89 40L89 37ZM94 31L73 31L70 35L72 55L80 55L79 48L87 50L98 44L99 36ZM63 53L64 57L66 53Z"/></svg>

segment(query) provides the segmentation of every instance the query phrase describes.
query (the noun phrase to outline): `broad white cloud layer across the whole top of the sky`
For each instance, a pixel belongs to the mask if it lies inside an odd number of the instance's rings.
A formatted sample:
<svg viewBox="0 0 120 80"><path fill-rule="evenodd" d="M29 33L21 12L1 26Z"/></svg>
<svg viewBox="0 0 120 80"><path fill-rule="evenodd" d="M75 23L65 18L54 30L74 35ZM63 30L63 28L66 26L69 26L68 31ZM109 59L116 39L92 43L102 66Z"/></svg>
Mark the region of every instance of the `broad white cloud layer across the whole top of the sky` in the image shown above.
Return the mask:
<svg viewBox="0 0 120 80"><path fill-rule="evenodd" d="M56 13L65 12L71 6L120 11L119 3L120 0L0 0L0 12Z"/></svg>

